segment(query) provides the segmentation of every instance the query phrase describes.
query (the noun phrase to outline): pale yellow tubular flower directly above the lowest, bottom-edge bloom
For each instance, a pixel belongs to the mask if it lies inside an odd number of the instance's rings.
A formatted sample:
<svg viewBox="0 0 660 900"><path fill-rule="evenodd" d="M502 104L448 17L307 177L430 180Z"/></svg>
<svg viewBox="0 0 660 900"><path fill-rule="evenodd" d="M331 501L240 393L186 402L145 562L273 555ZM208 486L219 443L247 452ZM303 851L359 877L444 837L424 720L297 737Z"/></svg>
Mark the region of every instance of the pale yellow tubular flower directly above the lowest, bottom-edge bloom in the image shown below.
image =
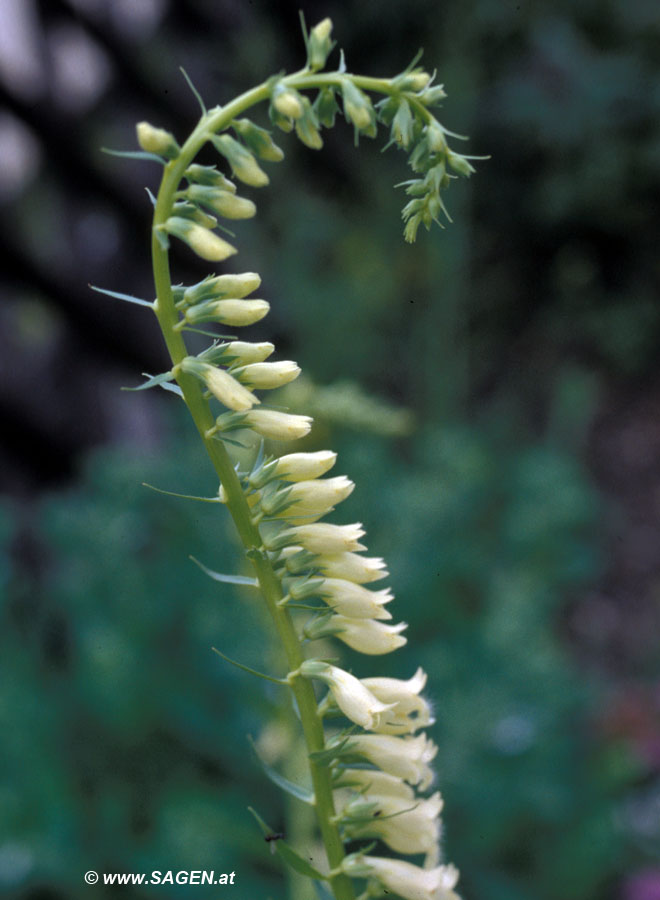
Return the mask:
<svg viewBox="0 0 660 900"><path fill-rule="evenodd" d="M427 799L380 796L371 791L360 802L374 802L374 818L351 826L353 837L377 836L396 853L433 853L440 840L440 813L443 801L439 793ZM350 811L350 804L348 806Z"/></svg>

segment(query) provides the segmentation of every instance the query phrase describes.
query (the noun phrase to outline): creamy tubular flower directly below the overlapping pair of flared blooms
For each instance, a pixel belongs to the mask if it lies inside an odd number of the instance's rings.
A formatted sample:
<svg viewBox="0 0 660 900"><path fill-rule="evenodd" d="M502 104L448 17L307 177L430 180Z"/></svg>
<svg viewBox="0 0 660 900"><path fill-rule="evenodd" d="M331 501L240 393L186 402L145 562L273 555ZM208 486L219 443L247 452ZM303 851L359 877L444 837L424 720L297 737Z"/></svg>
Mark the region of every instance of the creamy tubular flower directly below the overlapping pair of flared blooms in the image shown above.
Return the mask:
<svg viewBox="0 0 660 900"><path fill-rule="evenodd" d="M438 748L425 734L395 737L390 734L351 735L351 751L364 756L383 772L403 778L426 790L433 781L433 761Z"/></svg>

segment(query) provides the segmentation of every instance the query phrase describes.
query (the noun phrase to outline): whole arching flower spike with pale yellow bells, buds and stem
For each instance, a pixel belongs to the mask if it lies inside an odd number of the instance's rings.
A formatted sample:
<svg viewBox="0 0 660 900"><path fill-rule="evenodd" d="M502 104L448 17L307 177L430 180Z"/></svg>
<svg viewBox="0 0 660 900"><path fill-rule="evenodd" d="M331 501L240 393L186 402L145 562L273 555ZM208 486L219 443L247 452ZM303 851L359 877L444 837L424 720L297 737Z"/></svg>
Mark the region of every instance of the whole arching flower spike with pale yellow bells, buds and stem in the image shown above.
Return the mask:
<svg viewBox="0 0 660 900"><path fill-rule="evenodd" d="M153 217L156 300L149 305L172 360L171 370L148 386L163 384L181 393L219 478L218 499L236 525L286 655L289 672L281 683L293 692L300 714L328 863L325 872L308 874L327 881L336 900L354 900L354 879L363 881L363 898L451 900L457 872L440 862L442 799L438 792L426 793L437 750L423 731L433 722L422 695L426 674L418 669L408 680L359 678L307 658L303 649L332 637L374 657L406 643L406 625L390 611L393 594L380 585L388 576L385 562L365 555L362 525L321 521L351 494L353 482L329 474L337 461L331 450L260 455L249 471L237 470L227 440L233 431L251 429L285 444L309 433L309 417L271 408L267 394L255 393L287 384L300 368L292 360L272 360L269 342L218 338L196 355L187 348L189 329L217 324L234 331L267 315L269 303L253 296L261 284L256 273L212 274L191 286L173 286L170 276L171 238L210 262L237 252L217 233L218 217L249 218L256 206L228 176L263 187L269 181L265 164L283 157L270 132L244 117L262 101L269 103L275 127L295 132L312 149L321 148L323 128L341 110L356 141L375 137L379 126L389 129L391 142L409 154L418 176L405 183L410 241L420 224L428 228L445 210L441 191L455 177L452 172L473 171L467 157L450 150L449 133L431 112L444 91L427 72L413 64L391 79L356 76L346 71L343 56L336 71L322 72L333 48L328 19L305 33L305 41L308 59L300 72L271 78L208 112L200 100L202 117L182 144L163 129L138 125L143 155L164 166ZM369 93L383 99L374 106ZM195 163L207 144L228 172ZM305 607L311 614L298 633L291 609ZM327 687L320 703L315 684ZM343 729L336 727L342 718L348 722ZM346 855L345 843L359 839L371 843ZM394 853L423 856L423 865L372 855L374 840ZM295 848L291 853L294 868L302 865L295 864Z"/></svg>

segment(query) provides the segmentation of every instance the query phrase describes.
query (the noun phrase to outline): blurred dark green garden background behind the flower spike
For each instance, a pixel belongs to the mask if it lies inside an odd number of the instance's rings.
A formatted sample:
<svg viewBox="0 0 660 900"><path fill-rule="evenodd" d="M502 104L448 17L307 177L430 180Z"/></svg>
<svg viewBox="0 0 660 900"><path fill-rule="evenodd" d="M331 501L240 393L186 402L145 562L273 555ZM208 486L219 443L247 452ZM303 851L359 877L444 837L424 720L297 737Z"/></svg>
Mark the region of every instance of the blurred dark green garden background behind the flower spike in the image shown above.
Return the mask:
<svg viewBox="0 0 660 900"><path fill-rule="evenodd" d="M0 895L209 896L82 876L215 869L285 896L246 810L283 823L247 737L281 698L210 651L263 668L269 632L187 559L241 571L222 510L141 487L217 485L170 395L119 391L165 365L155 323L87 284L152 291L158 173L99 148L186 135L180 65L209 105L298 67L299 5L352 71L424 47L492 157L411 247L384 136L282 135L228 267L261 273L252 334L303 366L306 449L358 485L337 521L388 560L410 639L376 666L429 672L446 855L466 900L659 900L652 0L0 3Z"/></svg>

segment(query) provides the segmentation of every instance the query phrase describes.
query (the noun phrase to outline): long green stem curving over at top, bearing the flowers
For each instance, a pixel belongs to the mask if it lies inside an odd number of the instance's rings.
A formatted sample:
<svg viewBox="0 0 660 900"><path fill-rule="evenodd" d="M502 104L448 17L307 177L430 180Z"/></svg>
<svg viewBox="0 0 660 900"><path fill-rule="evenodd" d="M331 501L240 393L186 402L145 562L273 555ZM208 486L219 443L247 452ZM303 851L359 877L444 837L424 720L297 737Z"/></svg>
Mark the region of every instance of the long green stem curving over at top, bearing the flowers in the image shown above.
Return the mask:
<svg viewBox="0 0 660 900"><path fill-rule="evenodd" d="M314 74L303 71L282 78L282 82L291 87L306 89L328 84L338 85L343 77L345 76L339 73ZM365 90L377 90L382 93L393 91L391 83L384 79L351 77L358 86ZM210 135L225 129L232 119L256 103L265 100L269 93L269 85L264 83L237 97L227 106L210 110L202 116L199 124L183 145L179 156L165 166L153 218L152 259L156 287L154 308L174 366L188 355L188 351L183 335L175 328L179 317L172 295L169 258L167 251L156 237L156 229L163 225L171 215L172 205L183 173ZM259 531L251 519L250 509L231 459L222 442L209 436L215 424L213 414L208 402L204 399L199 382L193 376L186 375L179 370L176 380L213 467L224 487L227 507L241 542L246 552L251 551L249 557L254 565L266 606L282 642L289 669L290 671L296 670L305 656L290 613L285 607L279 605L283 595L282 586L266 554L262 551ZM311 682L304 678L296 678L293 679L291 687L300 712L307 751L311 754L322 750L324 747L323 724L317 711L316 697ZM330 772L328 768L317 765L311 759L309 766L316 798L319 828L330 869L337 872L344 858L344 848L334 821L335 809ZM336 900L354 900L353 885L347 876L340 873L335 874L331 878L331 884Z"/></svg>

